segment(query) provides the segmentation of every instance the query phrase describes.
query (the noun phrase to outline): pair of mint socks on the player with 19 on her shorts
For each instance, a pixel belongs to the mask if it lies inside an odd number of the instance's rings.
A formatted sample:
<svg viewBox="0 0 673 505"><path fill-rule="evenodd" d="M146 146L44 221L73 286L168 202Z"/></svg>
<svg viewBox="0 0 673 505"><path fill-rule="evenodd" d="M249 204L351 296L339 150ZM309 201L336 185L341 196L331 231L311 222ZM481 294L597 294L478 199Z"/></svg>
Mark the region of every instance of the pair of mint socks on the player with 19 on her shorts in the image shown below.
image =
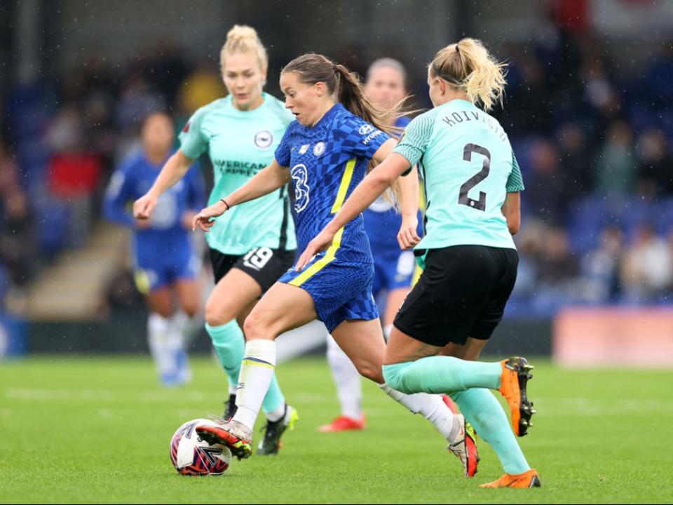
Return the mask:
<svg viewBox="0 0 673 505"><path fill-rule="evenodd" d="M240 373L240 362L243 361L243 354L245 354L243 331L240 330L236 319L219 326L211 326L205 323L205 330L210 335L215 353L217 353L219 362L222 363L226 377L229 378L229 384L236 388L238 374ZM262 408L264 412L273 412L284 404L285 397L280 391L276 374L274 374L273 379L271 379L271 386L264 396Z"/></svg>

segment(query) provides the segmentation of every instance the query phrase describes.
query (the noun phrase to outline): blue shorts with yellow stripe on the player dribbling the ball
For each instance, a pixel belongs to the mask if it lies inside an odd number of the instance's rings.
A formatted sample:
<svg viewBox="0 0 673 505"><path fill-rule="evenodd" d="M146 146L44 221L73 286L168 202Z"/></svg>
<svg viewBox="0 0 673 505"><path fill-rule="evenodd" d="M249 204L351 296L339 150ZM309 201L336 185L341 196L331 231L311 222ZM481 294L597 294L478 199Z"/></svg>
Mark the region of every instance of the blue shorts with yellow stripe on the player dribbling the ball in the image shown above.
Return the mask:
<svg viewBox="0 0 673 505"><path fill-rule="evenodd" d="M326 261L316 255L301 271L288 270L279 282L295 285L313 298L318 319L332 332L348 319L379 318L372 297L374 267L369 263Z"/></svg>

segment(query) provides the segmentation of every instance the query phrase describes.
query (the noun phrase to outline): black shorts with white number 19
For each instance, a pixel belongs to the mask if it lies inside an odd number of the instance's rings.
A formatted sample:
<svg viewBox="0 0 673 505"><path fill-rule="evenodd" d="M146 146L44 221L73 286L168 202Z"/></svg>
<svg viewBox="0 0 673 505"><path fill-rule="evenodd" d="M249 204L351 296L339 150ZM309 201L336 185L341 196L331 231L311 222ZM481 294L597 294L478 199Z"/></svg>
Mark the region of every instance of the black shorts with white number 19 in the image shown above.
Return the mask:
<svg viewBox="0 0 673 505"><path fill-rule="evenodd" d="M219 280L229 270L237 268L254 278L261 292L266 292L280 276L285 274L287 269L292 267L294 250L259 247L239 256L226 255L211 249L210 261L212 262L212 273L215 275L215 284L219 283Z"/></svg>

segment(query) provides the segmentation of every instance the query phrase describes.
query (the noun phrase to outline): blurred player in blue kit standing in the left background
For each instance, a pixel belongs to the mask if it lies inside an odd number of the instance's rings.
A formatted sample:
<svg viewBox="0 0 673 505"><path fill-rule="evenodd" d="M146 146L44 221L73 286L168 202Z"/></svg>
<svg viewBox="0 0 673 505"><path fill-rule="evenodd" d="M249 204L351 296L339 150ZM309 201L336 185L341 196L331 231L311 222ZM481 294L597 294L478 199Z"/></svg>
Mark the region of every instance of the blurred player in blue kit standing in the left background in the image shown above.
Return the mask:
<svg viewBox="0 0 673 505"><path fill-rule="evenodd" d="M172 120L156 112L142 123L142 148L125 159L112 175L104 198L104 215L135 230L133 258L139 290L147 294L147 341L161 383L189 382L186 344L200 325L197 318L201 260L189 233L195 210L205 201L198 170L158 199L151 220L137 220L130 203L154 183L172 155ZM175 307L175 298L178 307ZM202 320L201 320L202 321Z"/></svg>

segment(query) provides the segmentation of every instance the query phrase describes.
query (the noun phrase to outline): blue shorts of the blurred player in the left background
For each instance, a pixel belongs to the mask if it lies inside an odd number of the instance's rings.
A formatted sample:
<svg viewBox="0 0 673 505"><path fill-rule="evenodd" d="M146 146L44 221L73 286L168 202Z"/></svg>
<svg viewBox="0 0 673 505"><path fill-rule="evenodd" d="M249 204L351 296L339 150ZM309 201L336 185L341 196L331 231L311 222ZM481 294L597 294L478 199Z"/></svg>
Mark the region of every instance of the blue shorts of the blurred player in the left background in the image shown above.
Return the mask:
<svg viewBox="0 0 673 505"><path fill-rule="evenodd" d="M175 283L196 278L201 267L191 247L165 255L143 255L136 259L135 282L141 292L151 292Z"/></svg>

